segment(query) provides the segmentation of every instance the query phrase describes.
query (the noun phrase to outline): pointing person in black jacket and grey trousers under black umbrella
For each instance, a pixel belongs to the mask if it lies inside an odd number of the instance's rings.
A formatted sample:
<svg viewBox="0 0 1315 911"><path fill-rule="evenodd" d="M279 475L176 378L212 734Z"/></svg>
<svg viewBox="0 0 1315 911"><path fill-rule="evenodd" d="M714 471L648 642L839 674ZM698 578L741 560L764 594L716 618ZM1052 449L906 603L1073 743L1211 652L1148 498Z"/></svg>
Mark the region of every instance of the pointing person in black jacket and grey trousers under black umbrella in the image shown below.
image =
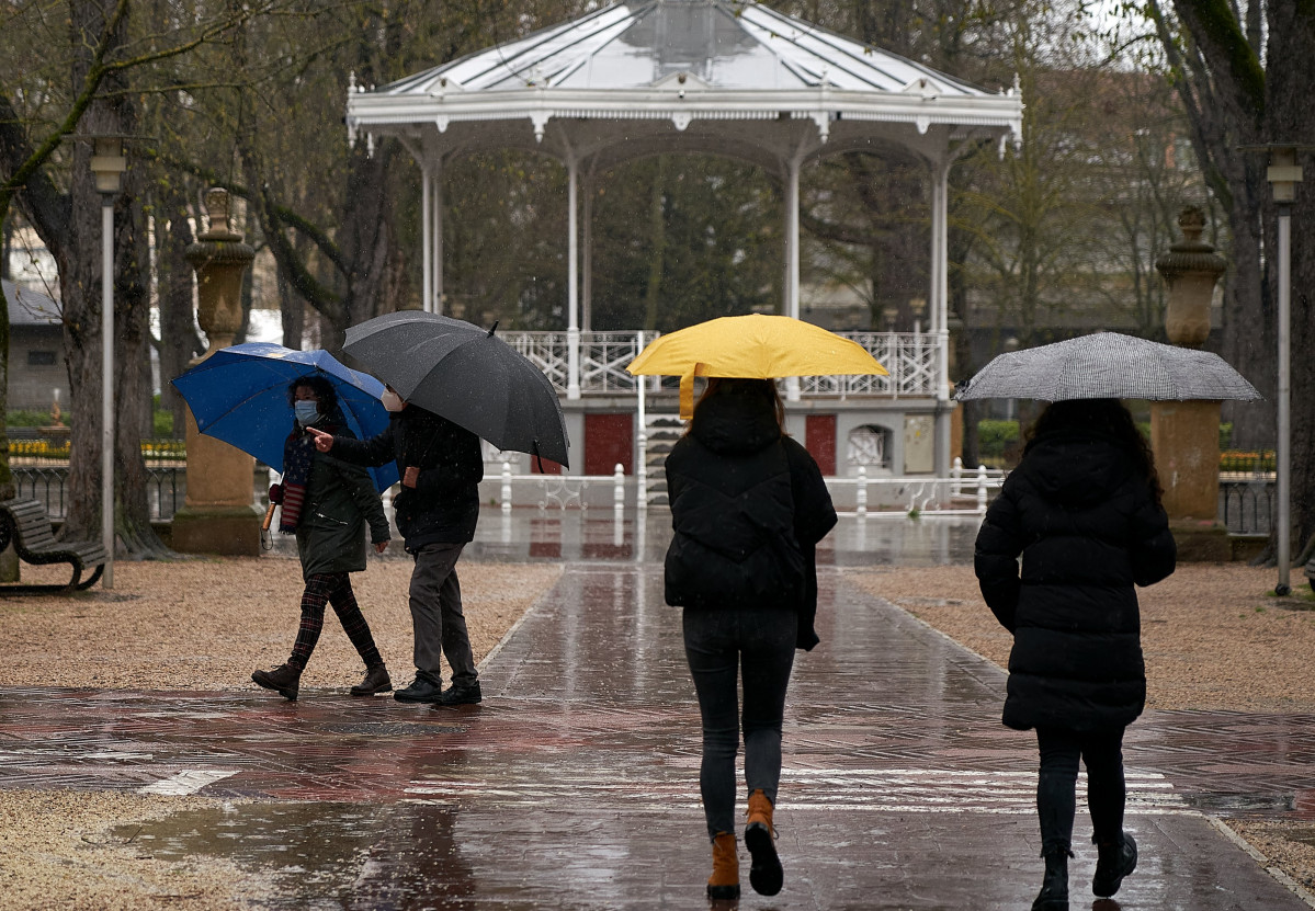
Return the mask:
<svg viewBox="0 0 1315 911"><path fill-rule="evenodd" d="M462 610L456 560L475 539L480 517L479 484L484 480L480 438L447 418L405 402L388 386L383 396L388 426L367 440L309 431L320 452L358 465L397 461L401 492L393 518L406 552L416 560L410 581L412 627L416 636L416 680L397 690L400 702L444 706L483 699L471 636ZM452 685L443 689L441 656L447 657Z"/></svg>

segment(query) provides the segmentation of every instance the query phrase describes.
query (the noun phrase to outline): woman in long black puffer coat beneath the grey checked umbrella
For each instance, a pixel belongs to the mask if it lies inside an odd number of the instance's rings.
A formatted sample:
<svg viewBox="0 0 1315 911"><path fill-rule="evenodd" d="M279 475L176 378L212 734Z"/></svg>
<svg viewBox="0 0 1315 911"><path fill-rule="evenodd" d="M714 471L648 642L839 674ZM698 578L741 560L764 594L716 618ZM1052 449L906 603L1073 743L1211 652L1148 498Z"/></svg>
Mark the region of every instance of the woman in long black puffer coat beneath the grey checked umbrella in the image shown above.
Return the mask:
<svg viewBox="0 0 1315 911"><path fill-rule="evenodd" d="M1005 724L1036 728L1045 879L1034 911L1068 908L1074 785L1086 764L1097 845L1091 890L1109 897L1137 862L1123 831L1123 731L1145 705L1135 586L1177 556L1155 460L1114 398L1055 402L977 535L982 597L1014 634ZM1022 556L1022 564L1019 564Z"/></svg>

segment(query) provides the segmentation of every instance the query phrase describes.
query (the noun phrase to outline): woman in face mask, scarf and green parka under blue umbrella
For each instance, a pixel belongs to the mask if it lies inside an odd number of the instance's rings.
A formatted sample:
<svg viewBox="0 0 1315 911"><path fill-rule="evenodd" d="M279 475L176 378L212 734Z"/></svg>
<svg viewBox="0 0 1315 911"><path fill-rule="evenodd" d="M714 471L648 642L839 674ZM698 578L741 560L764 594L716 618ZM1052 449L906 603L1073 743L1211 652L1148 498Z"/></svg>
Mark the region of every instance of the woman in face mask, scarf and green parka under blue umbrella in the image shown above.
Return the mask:
<svg viewBox="0 0 1315 911"><path fill-rule="evenodd" d="M375 551L388 547L388 517L379 493L363 468L320 455L304 427L351 434L338 406L338 393L322 376L302 376L288 386L293 409L292 432L283 446L283 482L270 488L270 501L281 503L279 531L297 536L297 555L305 592L301 594L301 626L285 664L256 670L251 680L285 699L296 699L301 672L310 660L323 630L325 603L331 603L343 631L366 663L366 678L351 688L352 695L373 695L393 688L388 668L375 645L348 573L366 568L366 526Z"/></svg>

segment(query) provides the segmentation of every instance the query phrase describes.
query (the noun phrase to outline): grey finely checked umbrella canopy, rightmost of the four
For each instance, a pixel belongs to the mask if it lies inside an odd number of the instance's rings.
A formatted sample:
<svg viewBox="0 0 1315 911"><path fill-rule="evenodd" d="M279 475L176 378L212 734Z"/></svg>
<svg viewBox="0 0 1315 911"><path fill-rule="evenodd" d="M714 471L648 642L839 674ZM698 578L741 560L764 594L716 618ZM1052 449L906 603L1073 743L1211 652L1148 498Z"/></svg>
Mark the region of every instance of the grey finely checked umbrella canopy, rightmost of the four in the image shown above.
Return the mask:
<svg viewBox="0 0 1315 911"><path fill-rule="evenodd" d="M1094 333L997 355L955 398L1144 398L1256 401L1261 394L1219 355Z"/></svg>

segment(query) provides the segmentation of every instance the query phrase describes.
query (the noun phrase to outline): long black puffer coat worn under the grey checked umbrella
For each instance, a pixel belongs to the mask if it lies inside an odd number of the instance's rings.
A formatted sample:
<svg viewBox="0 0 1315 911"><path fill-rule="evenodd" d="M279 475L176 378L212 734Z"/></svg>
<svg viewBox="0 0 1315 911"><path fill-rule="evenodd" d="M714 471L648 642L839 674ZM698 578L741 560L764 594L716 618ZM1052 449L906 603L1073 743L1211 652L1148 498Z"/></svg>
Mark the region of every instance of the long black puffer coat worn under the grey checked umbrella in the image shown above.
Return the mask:
<svg viewBox="0 0 1315 911"><path fill-rule="evenodd" d="M1168 517L1116 440L1038 436L977 534L982 597L1014 634L1005 724L1086 734L1132 723L1147 689L1134 586L1165 578L1176 559Z"/></svg>

